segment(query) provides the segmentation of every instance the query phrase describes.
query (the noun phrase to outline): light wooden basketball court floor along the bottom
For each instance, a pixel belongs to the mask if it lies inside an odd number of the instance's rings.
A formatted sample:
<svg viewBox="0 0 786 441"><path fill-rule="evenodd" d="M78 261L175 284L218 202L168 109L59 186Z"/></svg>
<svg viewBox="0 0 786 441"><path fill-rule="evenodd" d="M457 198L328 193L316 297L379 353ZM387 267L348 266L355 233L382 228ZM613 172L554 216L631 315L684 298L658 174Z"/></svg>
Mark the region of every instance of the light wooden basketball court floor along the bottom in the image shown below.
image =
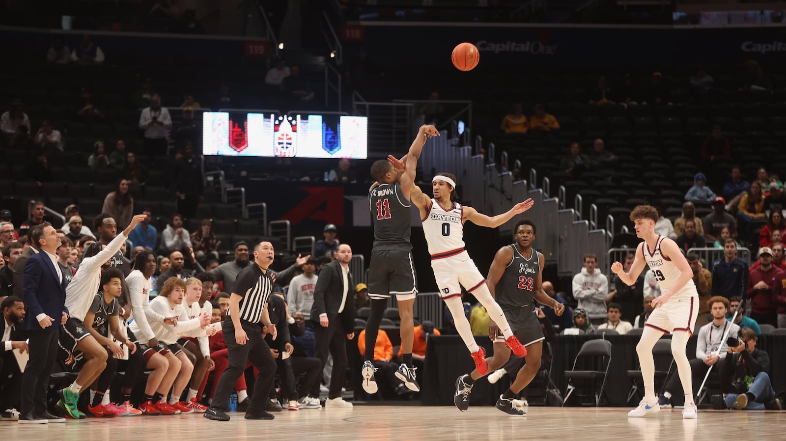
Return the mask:
<svg viewBox="0 0 786 441"><path fill-rule="evenodd" d="M699 441L786 439L786 411L700 410L683 420L680 410L656 417L628 418L629 409L531 407L527 417L509 417L494 407L461 413L444 406L362 406L275 413L273 421L247 421L231 413L228 422L201 415L89 418L65 424L0 422L0 439L19 441L218 441L222 439L340 441L486 441L560 439L580 441Z"/></svg>

